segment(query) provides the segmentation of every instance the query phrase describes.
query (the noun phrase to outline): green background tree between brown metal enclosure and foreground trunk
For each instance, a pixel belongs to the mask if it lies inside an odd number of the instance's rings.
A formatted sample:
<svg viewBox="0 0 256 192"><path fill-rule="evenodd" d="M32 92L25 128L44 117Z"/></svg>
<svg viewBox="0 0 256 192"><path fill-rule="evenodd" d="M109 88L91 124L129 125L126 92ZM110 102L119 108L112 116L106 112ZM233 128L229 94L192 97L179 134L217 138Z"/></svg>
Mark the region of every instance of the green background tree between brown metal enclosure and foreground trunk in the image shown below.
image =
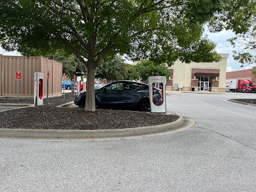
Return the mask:
<svg viewBox="0 0 256 192"><path fill-rule="evenodd" d="M46 56L51 60L56 60L63 63L63 73L66 73L67 77L74 77L74 75L81 76L86 73L86 67L83 63L78 60L77 56L69 55L63 56L60 53L55 53L55 55Z"/></svg>

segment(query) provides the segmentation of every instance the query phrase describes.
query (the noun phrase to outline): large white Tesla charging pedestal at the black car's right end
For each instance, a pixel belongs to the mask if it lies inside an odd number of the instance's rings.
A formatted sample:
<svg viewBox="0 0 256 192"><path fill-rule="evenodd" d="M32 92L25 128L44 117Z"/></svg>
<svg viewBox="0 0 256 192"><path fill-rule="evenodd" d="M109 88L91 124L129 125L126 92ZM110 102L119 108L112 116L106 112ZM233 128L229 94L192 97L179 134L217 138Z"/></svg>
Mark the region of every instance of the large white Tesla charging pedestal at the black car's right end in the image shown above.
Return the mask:
<svg viewBox="0 0 256 192"><path fill-rule="evenodd" d="M166 77L151 76L148 82L151 113L166 114ZM159 88L160 94L154 92L154 88Z"/></svg>

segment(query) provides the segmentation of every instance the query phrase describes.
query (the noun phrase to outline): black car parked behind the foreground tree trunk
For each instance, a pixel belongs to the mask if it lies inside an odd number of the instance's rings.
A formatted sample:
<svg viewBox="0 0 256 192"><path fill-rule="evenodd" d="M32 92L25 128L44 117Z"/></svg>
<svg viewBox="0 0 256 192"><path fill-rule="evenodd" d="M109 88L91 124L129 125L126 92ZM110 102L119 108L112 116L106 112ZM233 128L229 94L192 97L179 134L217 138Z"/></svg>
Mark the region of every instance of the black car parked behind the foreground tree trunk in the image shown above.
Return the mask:
<svg viewBox="0 0 256 192"><path fill-rule="evenodd" d="M85 107L86 91L75 97L75 105ZM161 90L154 88L154 104L161 104ZM150 111L149 85L132 81L112 82L95 90L95 104L104 109Z"/></svg>

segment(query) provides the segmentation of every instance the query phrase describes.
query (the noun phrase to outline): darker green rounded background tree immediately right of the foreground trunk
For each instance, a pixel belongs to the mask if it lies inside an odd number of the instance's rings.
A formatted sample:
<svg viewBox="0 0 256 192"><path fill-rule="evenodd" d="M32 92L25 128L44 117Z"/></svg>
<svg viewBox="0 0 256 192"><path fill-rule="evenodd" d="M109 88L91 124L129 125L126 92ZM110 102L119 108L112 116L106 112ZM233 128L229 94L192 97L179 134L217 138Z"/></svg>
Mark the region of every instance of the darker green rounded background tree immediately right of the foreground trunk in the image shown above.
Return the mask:
<svg viewBox="0 0 256 192"><path fill-rule="evenodd" d="M107 81L127 80L129 78L127 65L129 64L124 63L124 60L120 56L105 58L100 62L95 77L105 78Z"/></svg>

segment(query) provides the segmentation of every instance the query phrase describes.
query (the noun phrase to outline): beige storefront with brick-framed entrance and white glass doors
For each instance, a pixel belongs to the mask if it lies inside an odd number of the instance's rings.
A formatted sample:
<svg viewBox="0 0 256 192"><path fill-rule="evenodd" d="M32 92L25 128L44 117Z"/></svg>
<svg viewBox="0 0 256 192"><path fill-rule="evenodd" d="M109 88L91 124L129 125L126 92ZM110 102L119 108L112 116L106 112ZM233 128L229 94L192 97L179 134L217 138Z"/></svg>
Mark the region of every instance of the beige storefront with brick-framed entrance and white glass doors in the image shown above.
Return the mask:
<svg viewBox="0 0 256 192"><path fill-rule="evenodd" d="M172 67L167 90L195 92L225 92L228 54L220 53L222 60L212 63L182 63Z"/></svg>

